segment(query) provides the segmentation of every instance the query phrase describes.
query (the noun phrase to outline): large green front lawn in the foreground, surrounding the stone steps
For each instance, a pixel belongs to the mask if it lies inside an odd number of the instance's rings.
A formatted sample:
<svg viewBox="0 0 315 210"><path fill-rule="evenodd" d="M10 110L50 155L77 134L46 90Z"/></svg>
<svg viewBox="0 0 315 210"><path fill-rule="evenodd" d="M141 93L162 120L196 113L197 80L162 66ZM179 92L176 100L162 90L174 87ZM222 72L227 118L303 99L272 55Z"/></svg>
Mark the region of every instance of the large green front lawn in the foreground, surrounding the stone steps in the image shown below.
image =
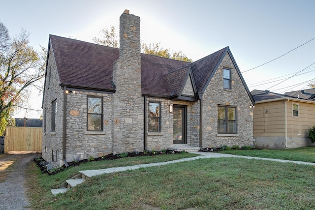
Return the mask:
<svg viewBox="0 0 315 210"><path fill-rule="evenodd" d="M251 151L251 150L247 150ZM303 153L303 152L302 152ZM178 155L178 156L177 156ZM117 167L188 154L104 161ZM308 153L312 156L313 154ZM134 171L96 176L53 196L50 189L75 171L95 169L98 162L57 175L41 174L30 163L27 182L32 209L314 209L315 167L244 158L207 158ZM73 170L71 173L69 171ZM66 178L65 178L66 177Z"/></svg>

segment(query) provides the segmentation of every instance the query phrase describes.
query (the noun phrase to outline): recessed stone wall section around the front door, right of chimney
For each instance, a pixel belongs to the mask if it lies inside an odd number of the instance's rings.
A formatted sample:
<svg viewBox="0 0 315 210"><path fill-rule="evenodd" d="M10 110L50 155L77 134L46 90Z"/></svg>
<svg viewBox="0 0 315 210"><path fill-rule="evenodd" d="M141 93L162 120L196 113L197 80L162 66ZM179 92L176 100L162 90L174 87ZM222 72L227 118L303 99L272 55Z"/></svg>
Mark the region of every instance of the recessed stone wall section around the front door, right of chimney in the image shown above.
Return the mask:
<svg viewBox="0 0 315 210"><path fill-rule="evenodd" d="M169 112L169 105L186 106L187 112L187 145L199 147L200 135L200 102L173 101L169 99L148 97L147 109L147 128L149 127L149 102L160 103L160 132L148 132L146 150L166 150L173 145L173 112Z"/></svg>

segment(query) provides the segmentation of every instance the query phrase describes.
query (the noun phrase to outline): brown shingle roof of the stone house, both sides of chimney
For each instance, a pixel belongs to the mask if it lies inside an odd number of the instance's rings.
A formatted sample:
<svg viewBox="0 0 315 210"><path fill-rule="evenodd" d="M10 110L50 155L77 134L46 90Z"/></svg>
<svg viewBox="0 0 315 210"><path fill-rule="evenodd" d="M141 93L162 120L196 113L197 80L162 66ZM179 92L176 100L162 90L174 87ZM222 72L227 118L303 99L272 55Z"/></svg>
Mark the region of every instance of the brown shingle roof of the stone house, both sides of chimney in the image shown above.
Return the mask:
<svg viewBox="0 0 315 210"><path fill-rule="evenodd" d="M113 63L119 58L118 48L56 35L50 35L50 44L62 86L115 91ZM189 67L197 91L202 92L226 52L228 47L192 63L141 54L142 94L171 97L179 93Z"/></svg>

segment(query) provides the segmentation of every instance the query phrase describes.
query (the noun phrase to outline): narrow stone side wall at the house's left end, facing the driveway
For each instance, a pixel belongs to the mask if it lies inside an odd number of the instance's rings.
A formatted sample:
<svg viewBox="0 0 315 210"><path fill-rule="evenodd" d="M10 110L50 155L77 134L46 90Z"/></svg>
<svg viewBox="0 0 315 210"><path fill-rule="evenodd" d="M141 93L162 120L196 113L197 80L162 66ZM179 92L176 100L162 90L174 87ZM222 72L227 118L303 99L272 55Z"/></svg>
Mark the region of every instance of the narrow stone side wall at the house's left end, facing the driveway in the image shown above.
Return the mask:
<svg viewBox="0 0 315 210"><path fill-rule="evenodd" d="M63 158L63 89L59 86L60 81L57 74L57 67L54 54L50 48L49 60L45 78L45 94L43 103L43 141L42 156L54 166L59 166ZM52 131L52 102L56 100L56 129Z"/></svg>

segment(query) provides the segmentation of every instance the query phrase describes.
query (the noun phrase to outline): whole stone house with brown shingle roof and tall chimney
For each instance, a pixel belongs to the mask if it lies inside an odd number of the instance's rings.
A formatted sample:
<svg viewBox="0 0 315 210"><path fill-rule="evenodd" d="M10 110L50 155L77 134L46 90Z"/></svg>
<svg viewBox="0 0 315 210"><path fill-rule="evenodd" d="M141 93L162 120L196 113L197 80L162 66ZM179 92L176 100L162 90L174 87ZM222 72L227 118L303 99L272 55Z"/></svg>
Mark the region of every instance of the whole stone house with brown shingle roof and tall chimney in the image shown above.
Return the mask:
<svg viewBox="0 0 315 210"><path fill-rule="evenodd" d="M120 17L120 48L49 36L42 156L252 145L252 95L229 47L192 63L140 52L140 18Z"/></svg>

